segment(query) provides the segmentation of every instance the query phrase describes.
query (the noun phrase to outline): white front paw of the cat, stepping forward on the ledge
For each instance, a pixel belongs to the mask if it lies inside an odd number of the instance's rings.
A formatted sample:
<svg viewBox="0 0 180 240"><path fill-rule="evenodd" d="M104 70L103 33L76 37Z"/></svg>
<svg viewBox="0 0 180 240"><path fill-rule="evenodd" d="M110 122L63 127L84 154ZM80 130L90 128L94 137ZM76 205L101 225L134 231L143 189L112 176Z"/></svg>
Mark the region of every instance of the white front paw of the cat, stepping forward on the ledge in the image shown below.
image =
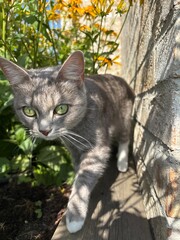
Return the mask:
<svg viewBox="0 0 180 240"><path fill-rule="evenodd" d="M70 233L75 233L81 230L84 225L85 218L71 213L69 210L66 212L66 226Z"/></svg>

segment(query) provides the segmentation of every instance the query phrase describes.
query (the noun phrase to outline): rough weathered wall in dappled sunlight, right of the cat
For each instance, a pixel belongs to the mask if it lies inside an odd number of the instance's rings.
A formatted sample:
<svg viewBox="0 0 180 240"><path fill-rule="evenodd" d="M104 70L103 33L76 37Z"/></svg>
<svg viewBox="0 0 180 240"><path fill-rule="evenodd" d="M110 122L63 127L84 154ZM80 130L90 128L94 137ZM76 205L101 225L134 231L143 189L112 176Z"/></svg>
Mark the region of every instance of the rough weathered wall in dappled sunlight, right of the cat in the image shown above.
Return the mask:
<svg viewBox="0 0 180 240"><path fill-rule="evenodd" d="M136 1L138 2L138 1ZM180 239L180 1L134 4L122 76L137 95L134 156L155 239Z"/></svg>

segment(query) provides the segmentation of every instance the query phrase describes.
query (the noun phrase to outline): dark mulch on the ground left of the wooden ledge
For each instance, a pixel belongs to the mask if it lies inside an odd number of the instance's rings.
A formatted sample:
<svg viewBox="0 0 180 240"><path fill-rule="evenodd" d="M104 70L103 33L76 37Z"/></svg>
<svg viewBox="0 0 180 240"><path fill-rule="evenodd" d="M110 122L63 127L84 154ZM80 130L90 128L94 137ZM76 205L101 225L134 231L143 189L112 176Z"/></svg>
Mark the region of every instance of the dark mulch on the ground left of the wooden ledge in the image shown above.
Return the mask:
<svg viewBox="0 0 180 240"><path fill-rule="evenodd" d="M65 211L70 187L11 183L0 186L0 239L50 240Z"/></svg>

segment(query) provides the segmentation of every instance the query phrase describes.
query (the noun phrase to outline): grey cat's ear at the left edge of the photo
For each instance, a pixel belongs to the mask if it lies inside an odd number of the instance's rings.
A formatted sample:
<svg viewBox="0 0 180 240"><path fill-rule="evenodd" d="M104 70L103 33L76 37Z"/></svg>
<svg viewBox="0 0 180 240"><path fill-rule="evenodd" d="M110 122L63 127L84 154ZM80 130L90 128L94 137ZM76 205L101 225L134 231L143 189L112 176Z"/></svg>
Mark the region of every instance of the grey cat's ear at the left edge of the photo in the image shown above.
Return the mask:
<svg viewBox="0 0 180 240"><path fill-rule="evenodd" d="M23 68L2 57L0 57L0 68L12 86L21 84L30 78Z"/></svg>

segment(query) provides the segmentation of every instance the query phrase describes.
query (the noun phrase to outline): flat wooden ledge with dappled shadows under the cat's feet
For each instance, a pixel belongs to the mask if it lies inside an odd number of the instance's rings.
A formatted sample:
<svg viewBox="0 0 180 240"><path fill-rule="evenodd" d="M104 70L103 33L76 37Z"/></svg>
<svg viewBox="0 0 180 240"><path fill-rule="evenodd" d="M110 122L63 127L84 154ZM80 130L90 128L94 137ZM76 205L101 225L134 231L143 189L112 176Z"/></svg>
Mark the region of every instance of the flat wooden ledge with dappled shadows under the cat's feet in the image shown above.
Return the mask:
<svg viewBox="0 0 180 240"><path fill-rule="evenodd" d="M142 198L132 156L130 159L128 171L120 173L116 156L112 155L109 166L91 194L82 230L70 234L63 218L52 240L152 240L148 221L141 214Z"/></svg>

